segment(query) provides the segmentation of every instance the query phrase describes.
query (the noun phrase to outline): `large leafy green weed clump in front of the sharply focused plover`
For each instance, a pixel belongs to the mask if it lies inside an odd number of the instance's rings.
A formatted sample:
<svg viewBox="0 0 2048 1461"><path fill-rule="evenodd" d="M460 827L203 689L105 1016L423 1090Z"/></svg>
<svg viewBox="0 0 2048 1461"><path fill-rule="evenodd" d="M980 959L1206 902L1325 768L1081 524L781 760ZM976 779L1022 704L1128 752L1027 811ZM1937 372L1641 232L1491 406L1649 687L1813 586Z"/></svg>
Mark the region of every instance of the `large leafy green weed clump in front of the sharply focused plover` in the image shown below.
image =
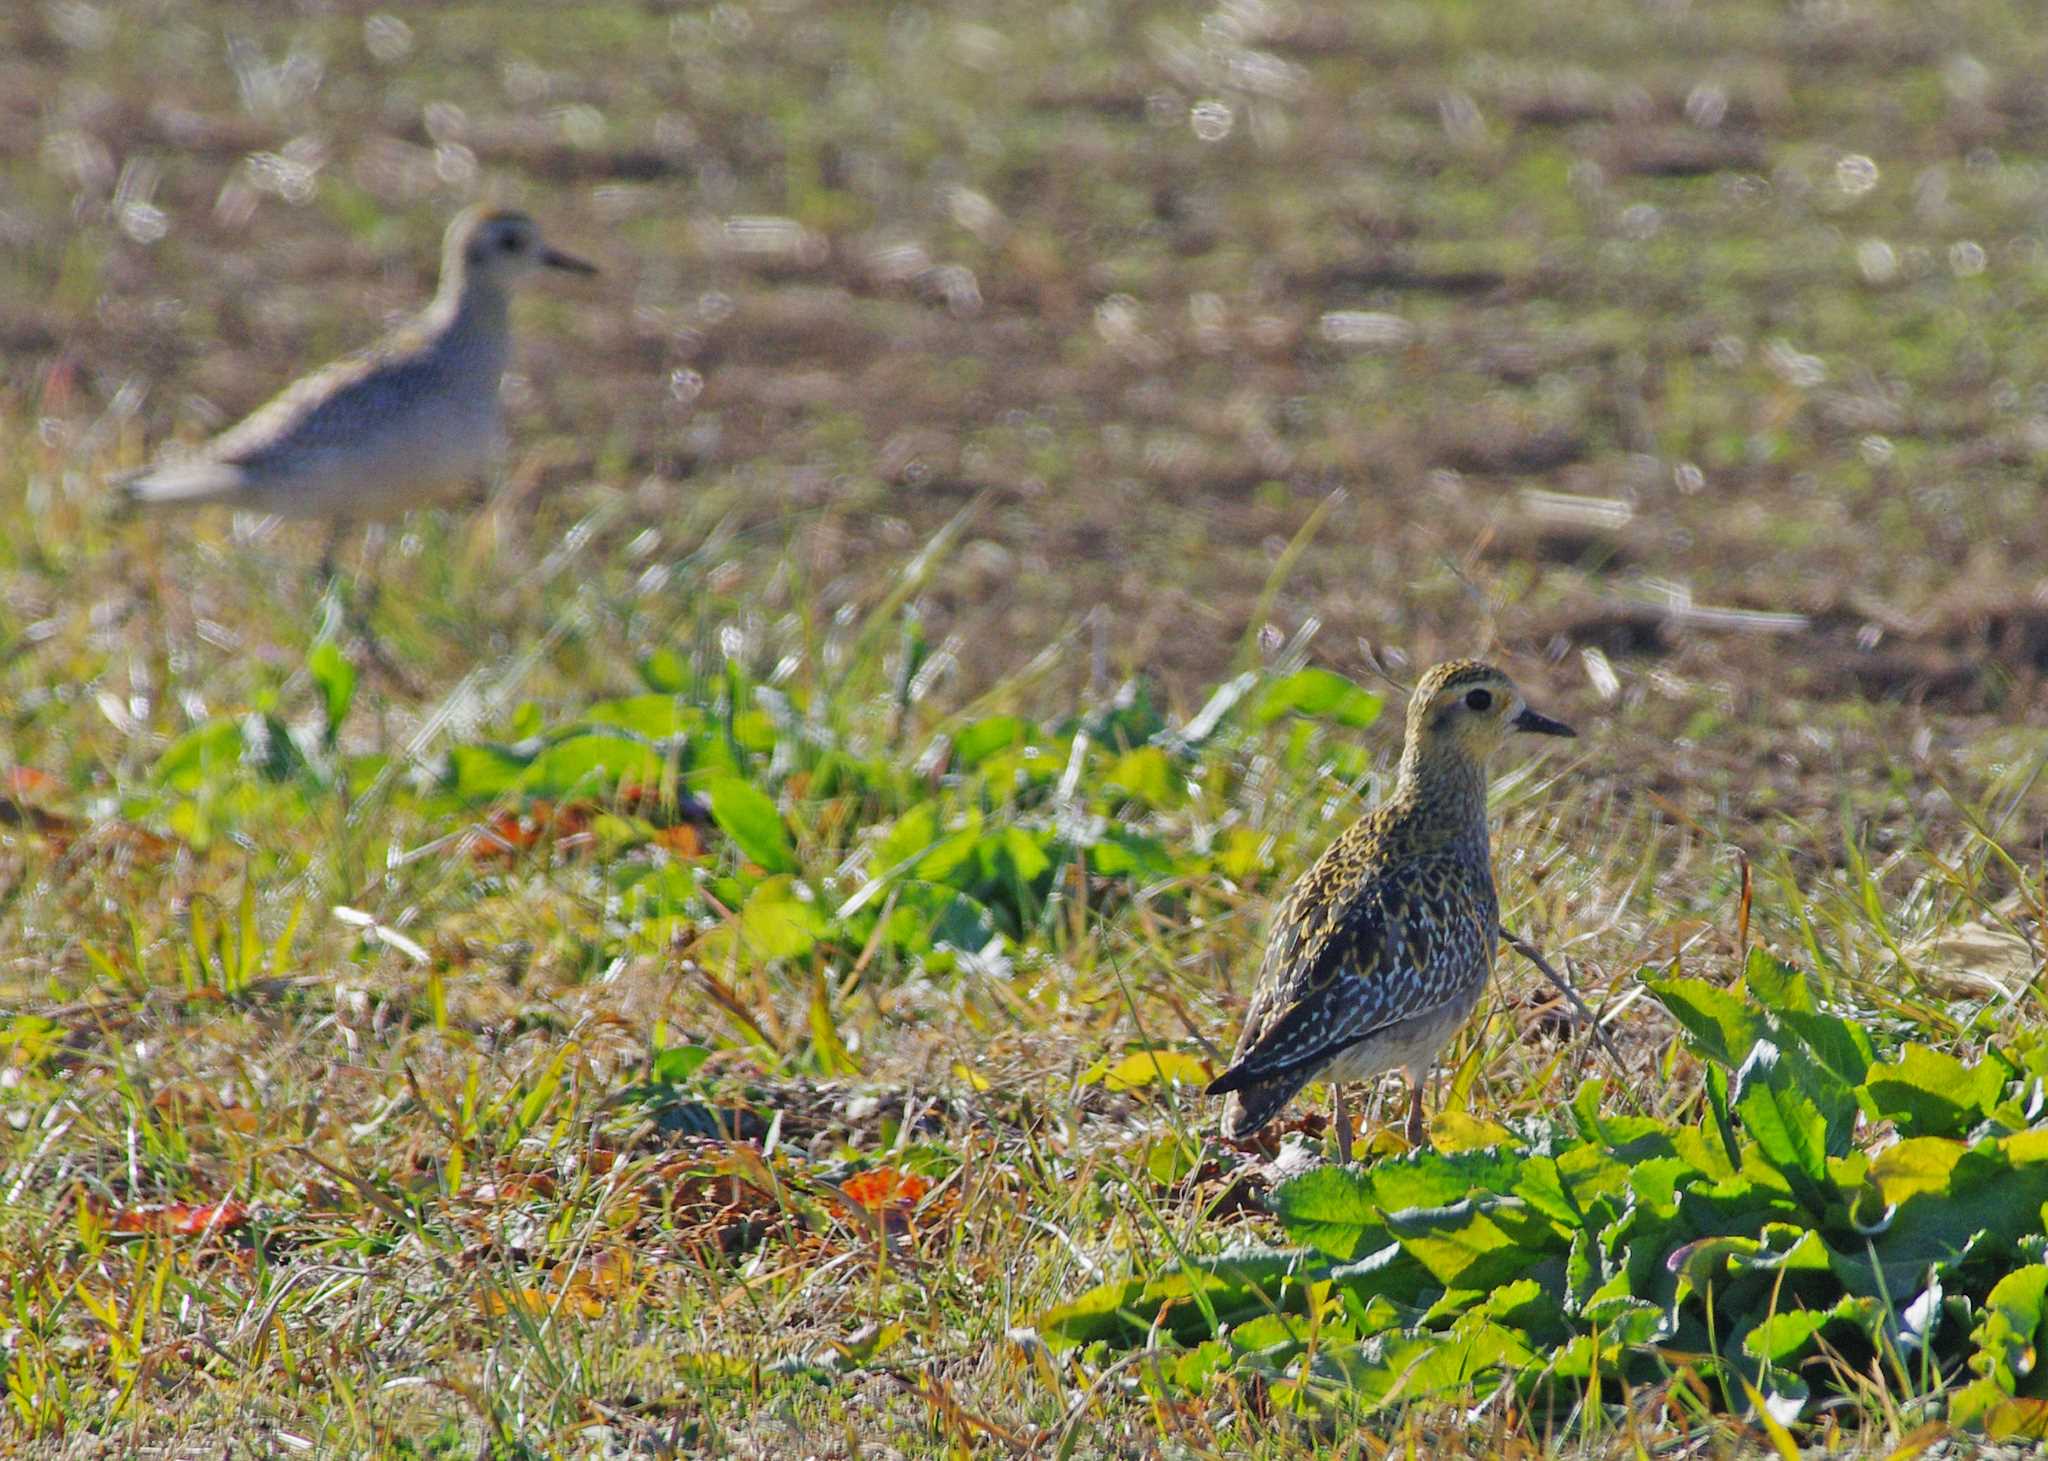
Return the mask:
<svg viewBox="0 0 2048 1461"><path fill-rule="evenodd" d="M1511 1395L1552 1430L1649 1400L1786 1436L1847 1406L2038 1436L2048 1037L1966 1066L1761 949L1733 988L1645 982L1706 1059L1694 1119L1589 1080L1518 1131L1319 1166L1270 1195L1292 1246L1100 1285L1047 1338L1305 1410Z"/></svg>

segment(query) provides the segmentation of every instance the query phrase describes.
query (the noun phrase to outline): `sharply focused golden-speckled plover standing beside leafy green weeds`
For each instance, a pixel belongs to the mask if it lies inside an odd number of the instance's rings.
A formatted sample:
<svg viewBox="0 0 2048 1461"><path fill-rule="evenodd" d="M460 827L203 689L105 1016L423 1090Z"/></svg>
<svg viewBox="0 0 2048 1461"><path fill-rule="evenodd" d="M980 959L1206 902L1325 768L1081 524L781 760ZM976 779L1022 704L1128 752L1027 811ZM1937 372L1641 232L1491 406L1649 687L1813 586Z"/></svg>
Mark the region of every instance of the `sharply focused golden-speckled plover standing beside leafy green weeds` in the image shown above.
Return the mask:
<svg viewBox="0 0 2048 1461"><path fill-rule="evenodd" d="M1479 1004L1499 943L1487 758L1509 732L1577 734L1491 664L1452 660L1415 686L1393 795L1329 844L1274 918L1237 1053L1208 1086L1229 1096L1225 1137L1251 1135L1321 1078L1350 1162L1341 1082L1405 1070L1407 1135L1421 1145L1423 1076Z"/></svg>

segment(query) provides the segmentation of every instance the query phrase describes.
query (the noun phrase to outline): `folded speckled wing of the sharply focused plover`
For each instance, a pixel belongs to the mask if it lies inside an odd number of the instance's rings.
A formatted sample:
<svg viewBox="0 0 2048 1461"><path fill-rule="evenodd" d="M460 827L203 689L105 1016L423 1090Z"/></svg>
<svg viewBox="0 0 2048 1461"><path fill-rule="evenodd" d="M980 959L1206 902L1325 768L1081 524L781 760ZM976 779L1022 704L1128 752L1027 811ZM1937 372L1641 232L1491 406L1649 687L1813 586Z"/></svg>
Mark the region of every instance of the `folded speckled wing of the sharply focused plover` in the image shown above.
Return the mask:
<svg viewBox="0 0 2048 1461"><path fill-rule="evenodd" d="M1300 916L1296 904L1329 912ZM1303 879L1276 920L1231 1068L1210 1092L1309 1080L1346 1045L1438 1008L1487 961L1491 924L1452 857L1403 863L1335 898Z"/></svg>

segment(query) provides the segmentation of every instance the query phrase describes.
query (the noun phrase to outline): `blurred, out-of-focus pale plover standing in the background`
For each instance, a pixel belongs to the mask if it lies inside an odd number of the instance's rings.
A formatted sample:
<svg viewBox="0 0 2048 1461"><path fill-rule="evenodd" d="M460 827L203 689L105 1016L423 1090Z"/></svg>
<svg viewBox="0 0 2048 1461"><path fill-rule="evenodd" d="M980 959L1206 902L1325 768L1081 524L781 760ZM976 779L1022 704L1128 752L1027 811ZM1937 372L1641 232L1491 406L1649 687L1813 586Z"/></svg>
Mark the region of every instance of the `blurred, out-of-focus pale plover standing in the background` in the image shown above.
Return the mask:
<svg viewBox="0 0 2048 1461"><path fill-rule="evenodd" d="M143 506L217 502L340 525L393 516L475 479L504 443L510 287L539 268L598 273L549 248L524 213L457 215L440 289L416 320L295 381L195 455L129 473L119 490Z"/></svg>

